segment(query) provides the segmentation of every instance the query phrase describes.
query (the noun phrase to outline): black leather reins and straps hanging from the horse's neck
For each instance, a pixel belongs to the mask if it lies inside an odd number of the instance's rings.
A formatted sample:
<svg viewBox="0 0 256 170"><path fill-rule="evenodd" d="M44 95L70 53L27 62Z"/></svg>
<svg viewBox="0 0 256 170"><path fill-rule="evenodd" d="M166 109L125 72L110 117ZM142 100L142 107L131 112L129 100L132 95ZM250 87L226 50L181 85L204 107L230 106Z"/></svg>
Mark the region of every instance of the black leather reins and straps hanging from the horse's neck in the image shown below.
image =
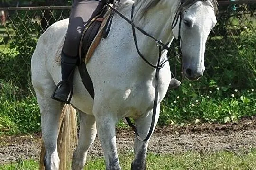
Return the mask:
<svg viewBox="0 0 256 170"><path fill-rule="evenodd" d="M183 3L183 2L182 2ZM150 35L149 33L147 33L145 30L143 30L142 28L140 27L137 27L134 23L133 23L133 16L134 16L134 4L132 5L132 11L131 11L131 19L132 20L129 20L128 18L126 18L122 13L120 13L117 9L113 8L112 6L110 6L110 4L107 3L107 6L112 10L114 11L115 13L117 13L121 18L123 18L124 20L126 20L131 26L132 26L132 32L133 32L133 38L134 38L134 43L135 43L135 46L136 46L136 50L137 50L137 53L139 54L139 56L148 64L150 65L151 67L155 68L156 71L155 71L155 97L154 97L154 104L153 104L153 113L152 113L152 120L151 120L151 125L150 125L150 128L149 128L149 132L146 136L145 139L142 139L138 132L137 132L137 128L136 126L131 122L131 120L129 119L129 117L125 117L125 121L127 122L127 124L133 129L133 131L135 132L136 134L136 137L139 141L147 141L150 136L152 135L153 133L153 130L154 130L154 125L155 125L155 116L156 116L156 109L157 109L157 102L158 102L158 80L159 80L159 72L160 72L160 69L164 67L165 63L170 59L170 54L171 52L173 52L172 48L171 47L168 47L169 43L170 42L167 42L166 44L164 44L161 40L158 40L156 39L154 36ZM178 20L180 20L179 22L179 35L178 35L178 42L180 43L180 40L181 40L181 19L182 19L182 12L176 12L175 14L175 17L174 17L174 20L172 22L172 29L174 29L174 27L177 26L177 23L178 23ZM138 48L138 44L137 44L137 36L136 36L136 32L135 32L135 28L137 30L139 30L141 33L143 33L144 35L152 38L153 40L155 40L155 43L156 43L156 46L159 47L159 55L158 55L158 62L157 62L157 65L154 65L152 63L150 63L148 60L146 60L146 58L143 56L143 54L141 54L139 48ZM164 62L160 63L161 61L161 53L162 51L164 50L167 50L168 53L167 53L167 60L165 60ZM181 55L181 49L180 47L178 48L178 54Z"/></svg>

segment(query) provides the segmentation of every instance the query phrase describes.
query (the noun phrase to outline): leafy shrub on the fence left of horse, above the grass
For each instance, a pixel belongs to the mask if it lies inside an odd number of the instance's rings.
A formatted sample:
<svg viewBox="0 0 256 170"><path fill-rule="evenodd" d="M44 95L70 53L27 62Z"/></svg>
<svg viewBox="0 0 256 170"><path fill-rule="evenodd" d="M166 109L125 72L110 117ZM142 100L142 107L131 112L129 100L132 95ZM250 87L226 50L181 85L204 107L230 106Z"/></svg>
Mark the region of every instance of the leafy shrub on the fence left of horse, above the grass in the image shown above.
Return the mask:
<svg viewBox="0 0 256 170"><path fill-rule="evenodd" d="M20 12L19 17L13 18L6 27L12 29L13 35L9 43L10 53L0 52L0 79L12 82L23 90L30 86L30 60L40 36L40 27L36 23L31 27L31 12ZM15 16L15 15L14 15ZM20 18L22 19L20 22Z"/></svg>

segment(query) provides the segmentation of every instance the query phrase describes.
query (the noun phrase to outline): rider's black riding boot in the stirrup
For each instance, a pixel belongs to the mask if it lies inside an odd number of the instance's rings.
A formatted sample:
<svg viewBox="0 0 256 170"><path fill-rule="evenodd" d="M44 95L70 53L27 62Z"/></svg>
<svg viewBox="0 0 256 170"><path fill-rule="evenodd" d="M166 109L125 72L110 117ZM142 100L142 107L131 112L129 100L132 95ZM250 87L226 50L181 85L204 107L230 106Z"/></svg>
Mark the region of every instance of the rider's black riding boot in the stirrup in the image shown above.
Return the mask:
<svg viewBox="0 0 256 170"><path fill-rule="evenodd" d="M69 104L73 94L73 75L78 58L61 53L61 78L51 98Z"/></svg>

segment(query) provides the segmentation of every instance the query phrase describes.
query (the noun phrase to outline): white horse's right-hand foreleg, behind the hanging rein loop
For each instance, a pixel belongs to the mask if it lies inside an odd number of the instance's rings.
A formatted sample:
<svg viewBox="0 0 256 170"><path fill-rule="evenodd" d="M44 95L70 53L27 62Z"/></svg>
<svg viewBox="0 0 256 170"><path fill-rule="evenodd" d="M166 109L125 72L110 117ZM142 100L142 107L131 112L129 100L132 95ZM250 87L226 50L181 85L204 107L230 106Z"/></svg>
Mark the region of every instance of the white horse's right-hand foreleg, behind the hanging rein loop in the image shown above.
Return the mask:
<svg viewBox="0 0 256 170"><path fill-rule="evenodd" d="M141 138L145 138L146 135L148 134L151 121L152 121L152 111L146 116L146 117L140 117L135 120L135 125L138 131L138 134ZM157 124L158 118L159 118L159 111L160 111L160 105L157 106L156 110L156 116L155 116L155 125ZM155 129L154 125L154 129ZM132 161L131 164L131 170L146 170L146 152L147 152L147 146L148 142L150 139L147 141L140 141L135 137L134 141L134 160Z"/></svg>

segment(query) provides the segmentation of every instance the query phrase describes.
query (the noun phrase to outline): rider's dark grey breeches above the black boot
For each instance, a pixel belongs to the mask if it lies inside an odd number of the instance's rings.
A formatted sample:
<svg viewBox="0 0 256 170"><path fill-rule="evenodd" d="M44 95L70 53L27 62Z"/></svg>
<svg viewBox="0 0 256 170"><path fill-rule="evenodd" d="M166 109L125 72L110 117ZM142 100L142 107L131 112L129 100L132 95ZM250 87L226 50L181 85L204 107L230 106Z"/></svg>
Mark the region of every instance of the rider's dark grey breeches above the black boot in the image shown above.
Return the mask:
<svg viewBox="0 0 256 170"><path fill-rule="evenodd" d="M80 39L86 22L103 8L101 2L95 0L73 0L66 39L63 46L64 54L78 57Z"/></svg>

